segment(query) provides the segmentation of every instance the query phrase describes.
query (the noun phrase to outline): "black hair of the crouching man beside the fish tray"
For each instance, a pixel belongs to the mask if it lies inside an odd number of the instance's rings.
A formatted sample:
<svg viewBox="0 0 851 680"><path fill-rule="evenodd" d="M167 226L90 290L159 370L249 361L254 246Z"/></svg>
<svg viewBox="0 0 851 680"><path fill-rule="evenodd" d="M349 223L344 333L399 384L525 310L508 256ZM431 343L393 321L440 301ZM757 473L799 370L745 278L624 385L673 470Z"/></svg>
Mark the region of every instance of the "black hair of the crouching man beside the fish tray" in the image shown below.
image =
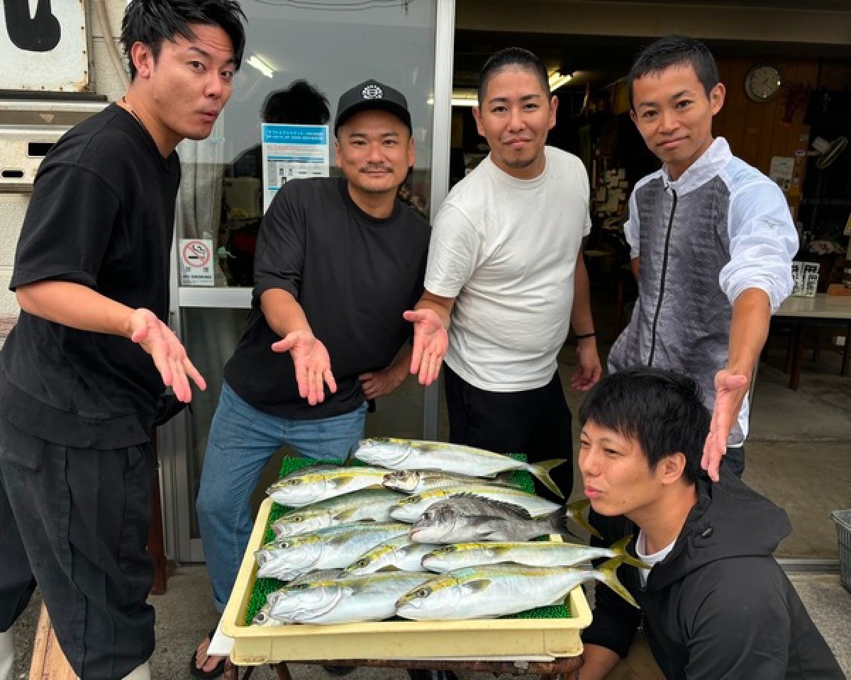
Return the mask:
<svg viewBox="0 0 851 680"><path fill-rule="evenodd" d="M641 445L654 470L665 456L682 452L683 477L694 484L700 467L710 412L697 382L677 371L632 366L591 388L580 405L580 425L593 422Z"/></svg>

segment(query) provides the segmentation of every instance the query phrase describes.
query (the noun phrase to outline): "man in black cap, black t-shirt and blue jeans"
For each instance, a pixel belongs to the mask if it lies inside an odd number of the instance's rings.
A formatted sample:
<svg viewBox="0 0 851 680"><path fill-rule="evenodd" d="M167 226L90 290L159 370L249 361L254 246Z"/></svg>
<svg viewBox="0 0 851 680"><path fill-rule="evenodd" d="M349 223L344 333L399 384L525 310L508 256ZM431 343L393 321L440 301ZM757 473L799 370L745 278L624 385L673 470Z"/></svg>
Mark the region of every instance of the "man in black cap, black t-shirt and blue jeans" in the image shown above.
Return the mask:
<svg viewBox="0 0 851 680"><path fill-rule="evenodd" d="M343 178L284 184L257 241L253 308L225 366L197 513L214 604L224 608L251 531L248 499L271 455L340 461L363 438L366 399L408 375L429 227L397 199L414 165L408 102L380 82L340 97L334 120ZM197 677L221 672L204 641Z"/></svg>

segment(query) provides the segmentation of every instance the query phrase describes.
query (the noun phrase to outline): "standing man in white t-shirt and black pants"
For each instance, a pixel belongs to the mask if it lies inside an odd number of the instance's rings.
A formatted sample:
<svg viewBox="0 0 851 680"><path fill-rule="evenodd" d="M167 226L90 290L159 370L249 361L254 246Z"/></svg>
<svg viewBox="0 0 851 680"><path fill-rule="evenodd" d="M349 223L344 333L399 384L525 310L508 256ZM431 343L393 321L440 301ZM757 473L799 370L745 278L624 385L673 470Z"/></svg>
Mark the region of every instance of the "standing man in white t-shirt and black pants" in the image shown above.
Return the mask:
<svg viewBox="0 0 851 680"><path fill-rule="evenodd" d="M431 234L426 293L410 321L411 372L437 379L446 358L449 439L530 461L572 456L557 354L573 326L574 388L602 372L582 239L591 229L585 167L545 146L558 100L534 54L506 48L479 77L473 109L490 154L448 195ZM553 475L564 496L569 463Z"/></svg>

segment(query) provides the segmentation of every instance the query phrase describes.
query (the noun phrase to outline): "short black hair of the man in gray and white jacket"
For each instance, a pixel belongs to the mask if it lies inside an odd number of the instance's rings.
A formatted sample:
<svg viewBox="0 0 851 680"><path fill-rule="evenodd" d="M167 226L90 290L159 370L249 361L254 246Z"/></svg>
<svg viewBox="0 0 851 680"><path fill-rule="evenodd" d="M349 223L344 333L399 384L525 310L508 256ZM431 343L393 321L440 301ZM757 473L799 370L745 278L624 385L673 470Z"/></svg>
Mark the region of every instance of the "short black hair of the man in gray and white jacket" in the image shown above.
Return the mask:
<svg viewBox="0 0 851 680"><path fill-rule="evenodd" d="M706 93L707 99L718 82L718 65L715 57L700 40L693 37L673 34L660 38L652 45L638 54L635 63L626 77L626 91L630 98L630 108L635 110L635 102L632 98L632 84L638 78L648 74L659 74L671 66L690 65L694 69L700 84Z"/></svg>

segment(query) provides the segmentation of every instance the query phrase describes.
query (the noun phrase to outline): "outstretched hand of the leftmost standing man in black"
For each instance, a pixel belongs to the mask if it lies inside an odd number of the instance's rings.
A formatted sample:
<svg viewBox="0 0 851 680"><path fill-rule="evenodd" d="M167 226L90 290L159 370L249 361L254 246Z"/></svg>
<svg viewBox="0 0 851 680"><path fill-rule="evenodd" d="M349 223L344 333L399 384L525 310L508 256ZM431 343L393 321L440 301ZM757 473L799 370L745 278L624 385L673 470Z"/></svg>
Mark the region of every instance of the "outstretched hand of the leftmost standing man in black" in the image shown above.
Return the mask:
<svg viewBox="0 0 851 680"><path fill-rule="evenodd" d="M189 378L201 389L207 388L186 349L174 332L157 318L150 309L135 309L130 314L130 339L144 349L154 360L163 382L174 390L174 396L188 403L192 399Z"/></svg>

